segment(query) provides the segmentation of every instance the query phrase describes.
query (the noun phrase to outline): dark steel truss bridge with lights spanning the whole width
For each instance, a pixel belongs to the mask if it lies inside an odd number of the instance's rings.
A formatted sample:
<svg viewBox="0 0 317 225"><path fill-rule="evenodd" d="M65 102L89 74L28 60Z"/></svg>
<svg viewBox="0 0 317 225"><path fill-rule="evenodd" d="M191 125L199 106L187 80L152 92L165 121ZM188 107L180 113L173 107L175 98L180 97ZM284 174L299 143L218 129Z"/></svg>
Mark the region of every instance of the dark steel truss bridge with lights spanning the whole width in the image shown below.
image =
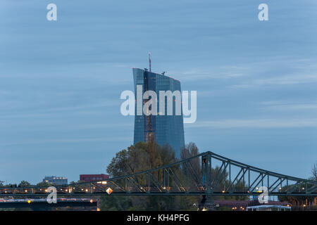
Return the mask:
<svg viewBox="0 0 317 225"><path fill-rule="evenodd" d="M252 167L212 152L156 169L92 181L55 186L58 196L75 195L268 195L317 196L317 181ZM0 188L3 196L47 196L47 187Z"/></svg>

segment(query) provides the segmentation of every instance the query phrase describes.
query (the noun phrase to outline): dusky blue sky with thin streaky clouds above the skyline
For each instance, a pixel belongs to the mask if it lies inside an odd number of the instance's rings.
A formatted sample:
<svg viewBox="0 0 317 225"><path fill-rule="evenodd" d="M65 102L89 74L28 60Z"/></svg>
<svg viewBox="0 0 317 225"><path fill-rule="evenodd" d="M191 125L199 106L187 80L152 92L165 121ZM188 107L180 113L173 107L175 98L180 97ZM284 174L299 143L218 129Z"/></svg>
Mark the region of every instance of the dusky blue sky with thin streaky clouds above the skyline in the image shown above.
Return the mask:
<svg viewBox="0 0 317 225"><path fill-rule="evenodd" d="M48 21L48 4L57 20ZM259 4L268 21L259 21ZM185 142L281 174L317 162L316 0L0 1L0 180L106 173L132 68L197 91Z"/></svg>

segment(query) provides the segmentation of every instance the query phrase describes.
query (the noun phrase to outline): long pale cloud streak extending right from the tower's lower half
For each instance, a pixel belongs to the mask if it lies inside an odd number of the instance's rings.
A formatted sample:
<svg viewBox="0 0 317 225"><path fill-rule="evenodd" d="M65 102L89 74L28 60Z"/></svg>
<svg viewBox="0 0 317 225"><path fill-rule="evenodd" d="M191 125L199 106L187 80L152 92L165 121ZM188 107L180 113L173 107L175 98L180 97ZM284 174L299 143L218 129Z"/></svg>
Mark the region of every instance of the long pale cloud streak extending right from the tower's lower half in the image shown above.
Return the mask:
<svg viewBox="0 0 317 225"><path fill-rule="evenodd" d="M187 128L298 128L317 127L317 118L306 119L257 119L257 120L206 120L186 124Z"/></svg>

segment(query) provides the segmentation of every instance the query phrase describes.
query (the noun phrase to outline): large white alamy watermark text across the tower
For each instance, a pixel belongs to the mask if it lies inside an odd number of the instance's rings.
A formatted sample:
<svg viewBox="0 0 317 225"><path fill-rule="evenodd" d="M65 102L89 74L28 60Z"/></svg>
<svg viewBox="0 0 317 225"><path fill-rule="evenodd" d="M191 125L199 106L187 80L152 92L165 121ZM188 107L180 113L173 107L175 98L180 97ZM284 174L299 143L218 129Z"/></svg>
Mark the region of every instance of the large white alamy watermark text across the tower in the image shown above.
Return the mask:
<svg viewBox="0 0 317 225"><path fill-rule="evenodd" d="M197 119L197 91L190 91L190 109L188 91L144 91L142 85L137 85L137 96L133 91L123 91L120 99L125 99L121 104L120 113L127 115L184 115L185 123L194 123ZM173 107L175 104L175 108ZM167 105L167 108L166 108ZM135 108L136 107L136 108ZM135 110L136 109L136 110ZM175 110L173 110L175 109ZM175 112L173 112L175 111Z"/></svg>

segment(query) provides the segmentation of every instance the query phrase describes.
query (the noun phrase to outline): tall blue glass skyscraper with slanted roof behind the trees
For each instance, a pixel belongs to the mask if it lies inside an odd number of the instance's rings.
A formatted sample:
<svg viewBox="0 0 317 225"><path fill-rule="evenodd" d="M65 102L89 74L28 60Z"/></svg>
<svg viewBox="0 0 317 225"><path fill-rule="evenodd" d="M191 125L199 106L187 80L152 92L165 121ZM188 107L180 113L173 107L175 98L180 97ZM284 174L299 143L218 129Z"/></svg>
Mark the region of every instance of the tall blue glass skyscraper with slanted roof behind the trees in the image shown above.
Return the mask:
<svg viewBox="0 0 317 225"><path fill-rule="evenodd" d="M159 91L181 91L180 81L155 72L133 68L133 79L136 98L137 85L142 86L142 96L145 91L155 91L157 103L160 102ZM168 101L168 97L165 98ZM182 111L180 115L175 114L175 99L172 99L173 115L167 115L167 107L164 115L160 115L160 113L158 115L144 115L142 108L147 101L149 100L142 100L142 105L136 105L135 107L134 143L153 140L159 143L160 146L168 144L175 151L176 157L180 158L180 150L185 145ZM142 111L142 115L137 115L137 108ZM157 109L159 111L159 105Z"/></svg>

